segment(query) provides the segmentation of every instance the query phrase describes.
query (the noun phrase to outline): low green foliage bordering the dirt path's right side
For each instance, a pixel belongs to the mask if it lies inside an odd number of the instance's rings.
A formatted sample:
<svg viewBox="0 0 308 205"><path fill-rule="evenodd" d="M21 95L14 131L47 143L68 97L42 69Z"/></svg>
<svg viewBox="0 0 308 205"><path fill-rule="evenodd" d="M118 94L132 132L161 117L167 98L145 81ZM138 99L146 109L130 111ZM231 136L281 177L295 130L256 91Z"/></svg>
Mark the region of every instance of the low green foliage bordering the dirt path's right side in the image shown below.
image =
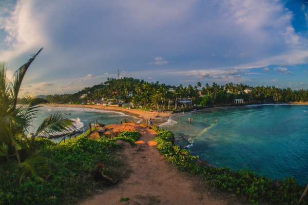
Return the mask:
<svg viewBox="0 0 308 205"><path fill-rule="evenodd" d="M288 177L278 182L272 181L257 173L243 170L232 171L229 168L209 168L197 163L198 156L190 155L190 151L183 150L179 146L172 145L172 133L156 128L158 133L155 141L157 148L169 162L177 165L180 170L192 174L201 174L209 185L219 190L230 191L237 195L243 195L254 203L259 204L297 204L304 187L299 186L293 177ZM275 186L279 185L279 186ZM301 204L308 204L307 197Z"/></svg>

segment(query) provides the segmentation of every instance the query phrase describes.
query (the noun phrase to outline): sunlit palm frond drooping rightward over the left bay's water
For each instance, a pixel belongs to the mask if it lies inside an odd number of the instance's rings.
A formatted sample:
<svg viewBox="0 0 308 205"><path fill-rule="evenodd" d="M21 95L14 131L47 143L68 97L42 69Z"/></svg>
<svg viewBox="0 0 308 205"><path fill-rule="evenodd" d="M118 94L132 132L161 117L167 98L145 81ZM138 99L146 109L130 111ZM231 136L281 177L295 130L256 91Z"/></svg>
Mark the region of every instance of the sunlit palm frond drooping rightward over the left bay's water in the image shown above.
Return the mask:
<svg viewBox="0 0 308 205"><path fill-rule="evenodd" d="M66 115L62 115L57 112L50 114L45 118L41 125L37 128L34 136L48 137L49 135L55 135L59 133L67 133L73 131L73 120L67 118Z"/></svg>

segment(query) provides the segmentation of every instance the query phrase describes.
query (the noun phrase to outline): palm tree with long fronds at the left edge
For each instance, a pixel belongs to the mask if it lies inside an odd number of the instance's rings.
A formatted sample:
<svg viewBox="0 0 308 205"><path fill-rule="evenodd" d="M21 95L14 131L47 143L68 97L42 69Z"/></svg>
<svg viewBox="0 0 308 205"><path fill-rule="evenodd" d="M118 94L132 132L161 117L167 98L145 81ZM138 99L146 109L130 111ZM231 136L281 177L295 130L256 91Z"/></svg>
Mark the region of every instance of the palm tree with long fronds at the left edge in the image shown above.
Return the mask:
<svg viewBox="0 0 308 205"><path fill-rule="evenodd" d="M38 105L45 100L26 95L17 105L17 97L26 71L42 49L32 55L27 63L14 73L13 82L8 80L6 76L5 65L0 64L0 157L6 156L7 160L16 157L22 177L29 172L37 176L39 171L46 174L49 172L49 168L41 155L32 155L21 162L25 157L20 155L20 151L27 150L37 136L46 137L56 132L67 131L72 126L72 120L59 113L51 114L42 122L30 139L26 137L30 122L38 112Z"/></svg>

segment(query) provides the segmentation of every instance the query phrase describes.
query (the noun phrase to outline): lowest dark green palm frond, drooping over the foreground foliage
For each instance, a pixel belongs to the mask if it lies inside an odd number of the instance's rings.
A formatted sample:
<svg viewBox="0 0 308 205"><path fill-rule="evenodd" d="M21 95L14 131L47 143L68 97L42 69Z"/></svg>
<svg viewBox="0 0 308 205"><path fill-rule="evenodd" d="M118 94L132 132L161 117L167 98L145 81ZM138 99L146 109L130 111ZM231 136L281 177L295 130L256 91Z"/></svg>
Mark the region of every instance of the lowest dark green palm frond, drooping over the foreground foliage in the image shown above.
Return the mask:
<svg viewBox="0 0 308 205"><path fill-rule="evenodd" d="M31 173L35 176L43 177L48 175L49 172L48 163L42 155L34 154L21 163L21 180Z"/></svg>

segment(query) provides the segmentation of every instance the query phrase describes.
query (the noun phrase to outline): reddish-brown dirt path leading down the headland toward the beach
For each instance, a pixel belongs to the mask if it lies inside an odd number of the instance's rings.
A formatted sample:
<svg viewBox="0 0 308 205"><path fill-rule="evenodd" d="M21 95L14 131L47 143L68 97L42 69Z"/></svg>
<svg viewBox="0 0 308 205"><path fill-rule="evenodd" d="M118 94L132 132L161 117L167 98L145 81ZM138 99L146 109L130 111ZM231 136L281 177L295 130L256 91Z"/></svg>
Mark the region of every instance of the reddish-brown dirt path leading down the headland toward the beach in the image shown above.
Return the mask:
<svg viewBox="0 0 308 205"><path fill-rule="evenodd" d="M168 163L152 141L155 131L134 124L107 126L111 133L123 130L136 130L142 134L137 146L122 142L125 147L123 154L132 173L128 179L80 204L240 204L232 196L212 194L203 181ZM126 197L129 197L128 201L120 201Z"/></svg>

